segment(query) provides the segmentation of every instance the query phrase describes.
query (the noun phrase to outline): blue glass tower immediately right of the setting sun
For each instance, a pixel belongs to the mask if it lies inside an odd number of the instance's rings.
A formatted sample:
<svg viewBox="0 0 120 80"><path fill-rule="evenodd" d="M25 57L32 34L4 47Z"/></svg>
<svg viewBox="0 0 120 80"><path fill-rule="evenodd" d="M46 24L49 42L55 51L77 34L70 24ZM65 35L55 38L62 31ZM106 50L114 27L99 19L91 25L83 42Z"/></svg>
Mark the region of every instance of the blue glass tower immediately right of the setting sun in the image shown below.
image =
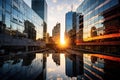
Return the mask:
<svg viewBox="0 0 120 80"><path fill-rule="evenodd" d="M69 39L70 45L75 44L76 38L76 12L68 12L65 16L65 34Z"/></svg>

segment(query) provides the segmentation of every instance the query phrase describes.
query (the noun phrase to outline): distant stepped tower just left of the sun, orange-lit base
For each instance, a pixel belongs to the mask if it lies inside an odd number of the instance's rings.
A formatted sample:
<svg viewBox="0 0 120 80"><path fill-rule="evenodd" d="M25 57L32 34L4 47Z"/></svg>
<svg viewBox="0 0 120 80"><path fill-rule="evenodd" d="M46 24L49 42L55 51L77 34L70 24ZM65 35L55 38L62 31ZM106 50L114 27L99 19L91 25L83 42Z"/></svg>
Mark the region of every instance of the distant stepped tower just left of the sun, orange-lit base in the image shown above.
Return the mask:
<svg viewBox="0 0 120 80"><path fill-rule="evenodd" d="M56 44L60 43L60 23L57 23L56 26L52 30L53 41Z"/></svg>

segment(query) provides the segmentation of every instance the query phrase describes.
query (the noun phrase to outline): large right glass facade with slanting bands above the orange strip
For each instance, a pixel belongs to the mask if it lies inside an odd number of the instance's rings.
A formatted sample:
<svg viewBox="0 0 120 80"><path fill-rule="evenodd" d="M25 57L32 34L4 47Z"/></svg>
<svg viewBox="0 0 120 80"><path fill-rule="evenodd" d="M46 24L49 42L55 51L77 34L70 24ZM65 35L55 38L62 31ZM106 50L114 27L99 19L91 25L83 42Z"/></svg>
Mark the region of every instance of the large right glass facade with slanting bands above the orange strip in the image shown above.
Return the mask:
<svg viewBox="0 0 120 80"><path fill-rule="evenodd" d="M119 0L84 0L77 8L83 17L83 38L120 33Z"/></svg>

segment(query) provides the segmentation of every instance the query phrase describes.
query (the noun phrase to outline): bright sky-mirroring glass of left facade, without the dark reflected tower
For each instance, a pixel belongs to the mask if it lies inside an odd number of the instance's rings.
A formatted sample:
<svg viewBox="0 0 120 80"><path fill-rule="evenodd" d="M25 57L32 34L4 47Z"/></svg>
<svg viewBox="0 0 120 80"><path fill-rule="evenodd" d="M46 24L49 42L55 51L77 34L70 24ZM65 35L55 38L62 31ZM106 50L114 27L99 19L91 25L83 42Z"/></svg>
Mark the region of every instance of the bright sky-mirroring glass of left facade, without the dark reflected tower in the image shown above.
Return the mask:
<svg viewBox="0 0 120 80"><path fill-rule="evenodd" d="M2 2L3 1L3 2ZM2 12L2 8L4 9ZM0 21L5 22L6 27L11 28L12 34L23 33L25 21L29 22L28 27L33 27L33 36L43 37L43 20L23 0L0 0ZM32 26L31 26L32 25ZM36 30L35 30L36 29ZM31 35L32 33L28 33Z"/></svg>

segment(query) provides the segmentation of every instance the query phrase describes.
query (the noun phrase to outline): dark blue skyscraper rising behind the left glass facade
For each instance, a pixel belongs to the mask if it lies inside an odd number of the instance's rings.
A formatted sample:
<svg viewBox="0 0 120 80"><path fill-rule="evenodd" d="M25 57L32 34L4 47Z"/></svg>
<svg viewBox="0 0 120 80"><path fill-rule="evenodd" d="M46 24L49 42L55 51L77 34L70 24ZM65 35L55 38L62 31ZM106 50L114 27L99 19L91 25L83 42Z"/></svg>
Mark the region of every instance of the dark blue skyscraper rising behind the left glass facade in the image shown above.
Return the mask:
<svg viewBox="0 0 120 80"><path fill-rule="evenodd" d="M46 0L32 0L32 9L44 20L43 39L45 41L46 35L47 35L47 2Z"/></svg>

